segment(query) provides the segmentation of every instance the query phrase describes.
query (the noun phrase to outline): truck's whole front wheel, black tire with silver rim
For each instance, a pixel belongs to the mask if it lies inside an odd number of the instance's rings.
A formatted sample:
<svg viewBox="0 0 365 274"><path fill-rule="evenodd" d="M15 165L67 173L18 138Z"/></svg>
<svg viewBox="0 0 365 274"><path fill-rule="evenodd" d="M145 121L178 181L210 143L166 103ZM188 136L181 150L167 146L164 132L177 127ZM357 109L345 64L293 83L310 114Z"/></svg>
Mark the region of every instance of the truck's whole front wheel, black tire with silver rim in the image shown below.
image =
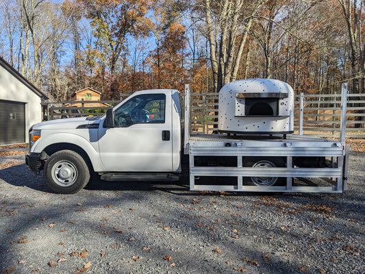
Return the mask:
<svg viewBox="0 0 365 274"><path fill-rule="evenodd" d="M61 194L76 193L90 180L85 160L71 150L53 153L45 163L44 175L49 188Z"/></svg>

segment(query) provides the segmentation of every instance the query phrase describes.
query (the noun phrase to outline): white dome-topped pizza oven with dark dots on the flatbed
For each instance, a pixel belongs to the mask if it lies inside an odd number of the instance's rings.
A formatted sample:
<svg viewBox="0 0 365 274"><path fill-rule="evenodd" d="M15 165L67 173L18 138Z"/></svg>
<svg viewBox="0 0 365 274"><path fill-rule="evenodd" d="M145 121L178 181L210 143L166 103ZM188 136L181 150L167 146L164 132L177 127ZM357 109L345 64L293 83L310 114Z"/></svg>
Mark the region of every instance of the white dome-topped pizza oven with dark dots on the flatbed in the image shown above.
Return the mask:
<svg viewBox="0 0 365 274"><path fill-rule="evenodd" d="M219 92L218 131L228 134L294 132L294 91L275 79L231 82Z"/></svg>

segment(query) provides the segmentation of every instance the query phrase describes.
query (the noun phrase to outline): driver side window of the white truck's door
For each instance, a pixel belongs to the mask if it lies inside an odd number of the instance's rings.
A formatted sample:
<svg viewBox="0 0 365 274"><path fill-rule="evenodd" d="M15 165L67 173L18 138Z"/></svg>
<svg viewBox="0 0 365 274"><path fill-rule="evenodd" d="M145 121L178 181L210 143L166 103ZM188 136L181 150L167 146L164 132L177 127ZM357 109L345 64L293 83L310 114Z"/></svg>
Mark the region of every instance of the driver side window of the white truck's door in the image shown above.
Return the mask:
<svg viewBox="0 0 365 274"><path fill-rule="evenodd" d="M114 112L115 127L129 127L140 123L165 123L163 94L138 95Z"/></svg>

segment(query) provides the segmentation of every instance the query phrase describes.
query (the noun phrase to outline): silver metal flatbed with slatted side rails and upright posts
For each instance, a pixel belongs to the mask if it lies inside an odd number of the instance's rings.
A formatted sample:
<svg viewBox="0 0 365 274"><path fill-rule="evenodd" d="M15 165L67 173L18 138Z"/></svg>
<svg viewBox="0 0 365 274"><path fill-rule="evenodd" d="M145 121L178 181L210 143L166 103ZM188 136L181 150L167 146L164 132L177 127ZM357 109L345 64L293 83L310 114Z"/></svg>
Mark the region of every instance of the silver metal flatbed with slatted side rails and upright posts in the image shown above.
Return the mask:
<svg viewBox="0 0 365 274"><path fill-rule="evenodd" d="M342 192L347 190L349 147L345 145L347 84L342 84L340 140L305 135L227 136L224 134L190 134L190 87L185 89L184 151L190 159L190 190L253 192ZM301 103L304 103L301 100ZM301 125L303 123L301 122ZM302 132L301 130L299 131ZM247 167L244 159L281 158L285 166ZM325 158L329 166L297 167L294 159ZM199 158L208 159L197 163ZM222 158L222 165L210 166L210 158ZM233 163L233 164L232 164ZM252 177L281 178L281 184L263 186L247 184ZM251 178L251 180L247 180Z"/></svg>

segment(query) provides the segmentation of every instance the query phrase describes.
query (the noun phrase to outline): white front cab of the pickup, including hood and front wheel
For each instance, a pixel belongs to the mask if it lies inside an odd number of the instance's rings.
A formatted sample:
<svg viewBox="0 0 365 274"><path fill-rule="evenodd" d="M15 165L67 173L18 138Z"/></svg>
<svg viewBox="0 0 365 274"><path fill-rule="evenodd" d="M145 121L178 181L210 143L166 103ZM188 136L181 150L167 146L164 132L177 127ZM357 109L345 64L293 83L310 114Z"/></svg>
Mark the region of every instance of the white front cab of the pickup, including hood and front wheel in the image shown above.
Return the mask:
<svg viewBox="0 0 365 274"><path fill-rule="evenodd" d="M101 179L178 179L181 107L177 90L141 90L101 117L47 121L29 129L26 164L50 188L74 193Z"/></svg>

